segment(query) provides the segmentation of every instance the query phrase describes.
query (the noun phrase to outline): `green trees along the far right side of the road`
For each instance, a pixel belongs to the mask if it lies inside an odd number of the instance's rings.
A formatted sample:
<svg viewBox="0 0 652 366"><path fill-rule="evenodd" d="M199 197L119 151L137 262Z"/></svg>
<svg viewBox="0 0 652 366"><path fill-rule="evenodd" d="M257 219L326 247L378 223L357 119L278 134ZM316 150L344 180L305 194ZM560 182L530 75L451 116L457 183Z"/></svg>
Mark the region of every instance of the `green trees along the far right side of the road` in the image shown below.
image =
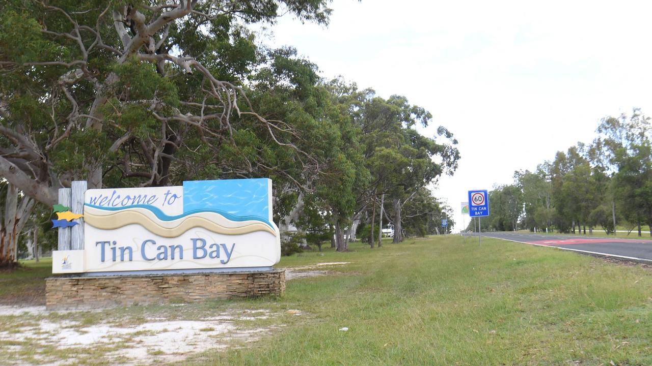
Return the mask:
<svg viewBox="0 0 652 366"><path fill-rule="evenodd" d="M578 143L557 152L534 173L516 172L514 186L522 193L524 208L521 225L561 232L602 227L611 234L614 221L629 229L652 223L651 132L649 118L634 109L630 116L602 119L591 145ZM508 206L492 205L493 229L509 229L503 219Z"/></svg>

